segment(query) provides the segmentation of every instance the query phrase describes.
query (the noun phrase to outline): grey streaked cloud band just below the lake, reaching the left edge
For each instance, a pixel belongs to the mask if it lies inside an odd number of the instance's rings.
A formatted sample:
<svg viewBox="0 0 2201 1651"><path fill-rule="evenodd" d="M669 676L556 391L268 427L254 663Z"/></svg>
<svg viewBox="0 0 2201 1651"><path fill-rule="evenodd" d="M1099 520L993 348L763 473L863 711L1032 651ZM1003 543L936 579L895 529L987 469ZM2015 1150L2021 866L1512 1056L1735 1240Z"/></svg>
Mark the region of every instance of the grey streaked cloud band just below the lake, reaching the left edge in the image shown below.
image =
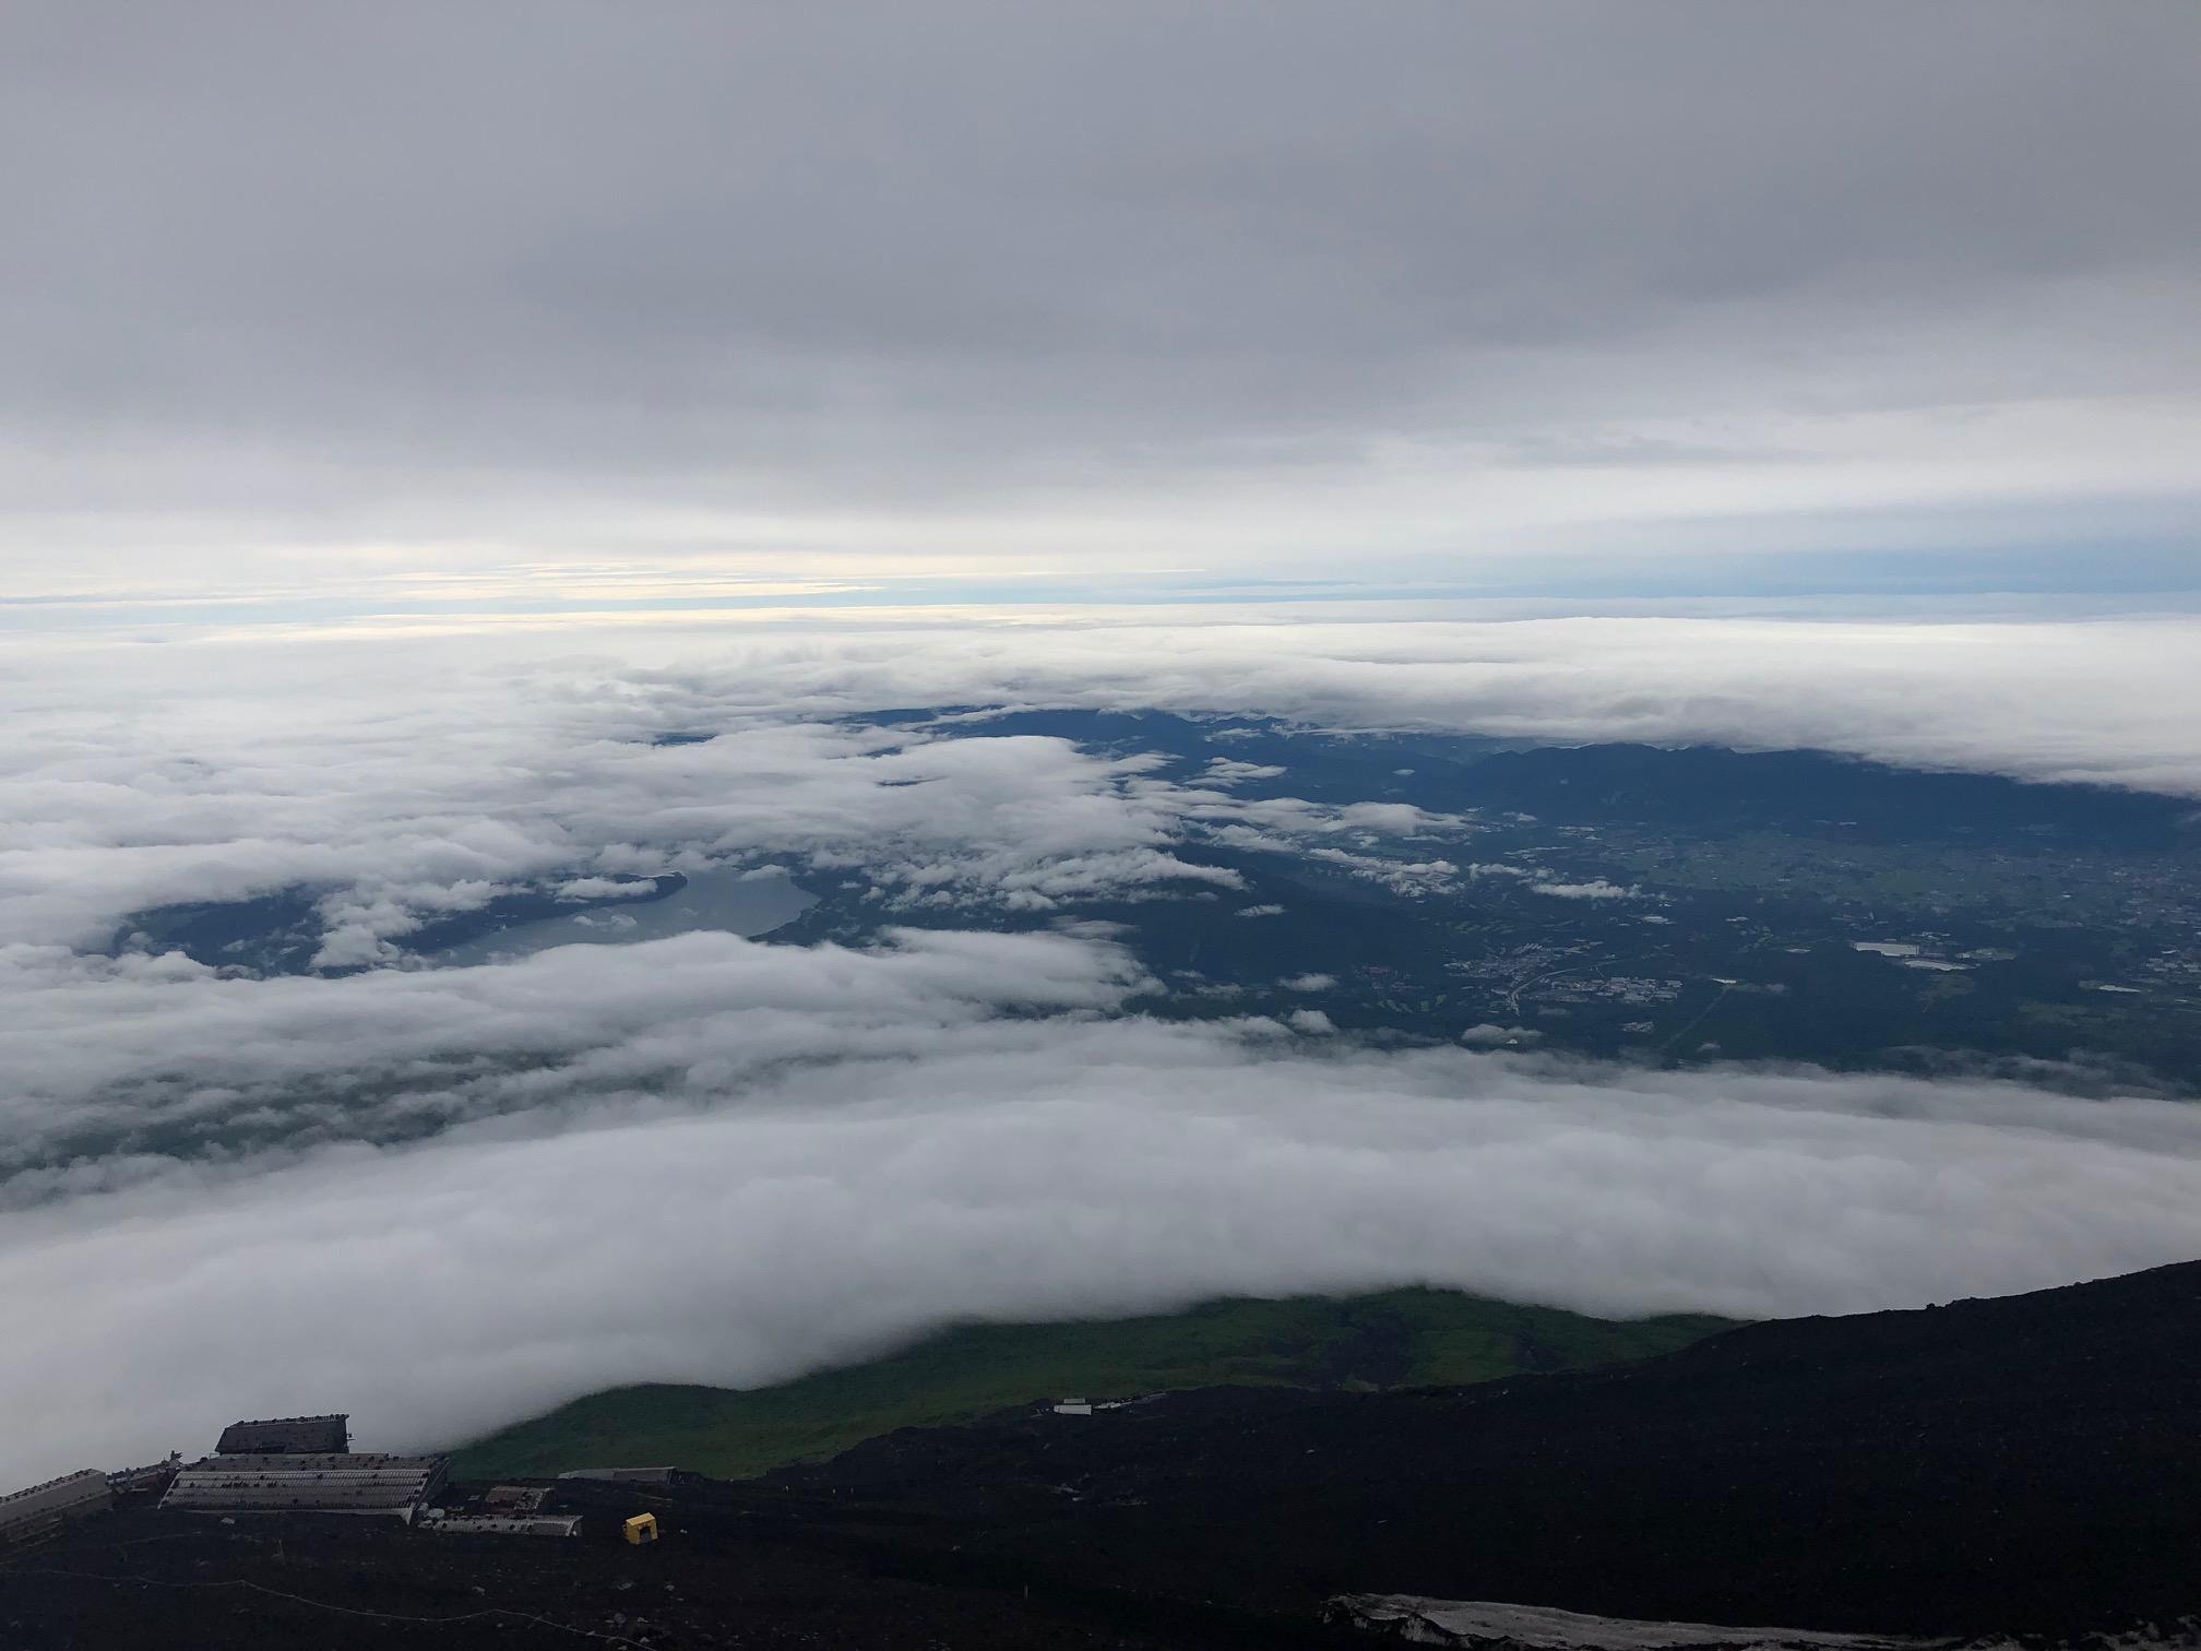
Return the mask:
<svg viewBox="0 0 2201 1651"><path fill-rule="evenodd" d="M7 980L0 973L0 980ZM682 1107L814 1061L913 1061L1004 1017L1116 1010L1118 947L889 931L874 949L689 933L513 964L225 980L183 958L31 975L0 1030L0 1209L106 1191L172 1158L266 1162L607 1094Z"/></svg>

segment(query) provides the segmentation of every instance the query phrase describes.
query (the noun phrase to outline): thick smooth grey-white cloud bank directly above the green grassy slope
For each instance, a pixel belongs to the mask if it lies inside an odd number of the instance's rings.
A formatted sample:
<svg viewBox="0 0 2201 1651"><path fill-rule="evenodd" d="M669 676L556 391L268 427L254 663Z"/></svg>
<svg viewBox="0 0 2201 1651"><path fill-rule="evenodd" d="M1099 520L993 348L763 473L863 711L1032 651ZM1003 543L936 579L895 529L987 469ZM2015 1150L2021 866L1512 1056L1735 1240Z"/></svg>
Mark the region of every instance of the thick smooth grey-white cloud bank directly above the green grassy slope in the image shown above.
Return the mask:
<svg viewBox="0 0 2201 1651"><path fill-rule="evenodd" d="M2201 1255L2201 1112L1999 1085L1310 1057L1041 1024L526 1140L335 1149L0 1217L0 1477L350 1409L438 1444L764 1382L957 1316L1428 1281L1855 1312ZM1294 1043L1290 1052L1279 1046ZM605 1120L621 1114L607 1103Z"/></svg>

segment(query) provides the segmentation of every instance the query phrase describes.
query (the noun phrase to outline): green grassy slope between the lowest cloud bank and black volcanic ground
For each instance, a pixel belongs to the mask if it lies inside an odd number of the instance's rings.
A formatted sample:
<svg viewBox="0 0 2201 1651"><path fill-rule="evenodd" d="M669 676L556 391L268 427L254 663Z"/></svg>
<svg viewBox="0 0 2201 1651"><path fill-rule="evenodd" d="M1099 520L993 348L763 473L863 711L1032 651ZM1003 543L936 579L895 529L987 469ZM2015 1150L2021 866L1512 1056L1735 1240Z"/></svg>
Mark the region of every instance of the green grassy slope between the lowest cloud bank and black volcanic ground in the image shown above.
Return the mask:
<svg viewBox="0 0 2201 1651"><path fill-rule="evenodd" d="M1151 1319L964 1325L887 1358L779 1387L616 1387L480 1440L460 1477L676 1464L724 1479L819 1462L898 1426L968 1422L1078 1393L1131 1398L1224 1382L1433 1387L1673 1352L1730 1321L1613 1323L1453 1290L1211 1301Z"/></svg>

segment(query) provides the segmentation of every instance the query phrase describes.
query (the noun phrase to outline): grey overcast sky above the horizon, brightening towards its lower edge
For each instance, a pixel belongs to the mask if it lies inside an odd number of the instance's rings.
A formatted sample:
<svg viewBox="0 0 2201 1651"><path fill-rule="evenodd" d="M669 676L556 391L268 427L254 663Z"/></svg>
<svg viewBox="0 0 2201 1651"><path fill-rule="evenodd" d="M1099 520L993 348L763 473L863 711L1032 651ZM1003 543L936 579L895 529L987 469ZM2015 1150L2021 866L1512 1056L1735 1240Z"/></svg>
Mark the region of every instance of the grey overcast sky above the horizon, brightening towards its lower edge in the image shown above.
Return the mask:
<svg viewBox="0 0 2201 1651"><path fill-rule="evenodd" d="M2188 0L0 33L7 597L2192 583Z"/></svg>

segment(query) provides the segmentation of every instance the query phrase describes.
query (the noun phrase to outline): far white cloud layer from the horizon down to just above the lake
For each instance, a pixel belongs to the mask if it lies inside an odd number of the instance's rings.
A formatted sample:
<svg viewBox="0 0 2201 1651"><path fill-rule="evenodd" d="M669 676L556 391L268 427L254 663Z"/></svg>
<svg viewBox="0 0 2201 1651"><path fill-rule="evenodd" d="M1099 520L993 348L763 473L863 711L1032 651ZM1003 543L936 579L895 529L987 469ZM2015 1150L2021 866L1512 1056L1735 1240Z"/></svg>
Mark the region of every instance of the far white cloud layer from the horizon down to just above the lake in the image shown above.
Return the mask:
<svg viewBox="0 0 2201 1651"><path fill-rule="evenodd" d="M808 856L902 898L1045 909L1182 885L1197 823L1321 843L1360 814L891 707L1078 704L1556 744L1825 748L2201 797L2201 621L790 621L451 636L20 638L0 660L0 936L332 889L326 962L526 878ZM825 718L854 718L828 724ZM715 735L707 744L651 744ZM1411 823L1406 823L1411 826ZM1349 852L1329 843L1336 852ZM1431 856L1433 861L1442 856ZM1433 872L1448 876L1446 872Z"/></svg>

